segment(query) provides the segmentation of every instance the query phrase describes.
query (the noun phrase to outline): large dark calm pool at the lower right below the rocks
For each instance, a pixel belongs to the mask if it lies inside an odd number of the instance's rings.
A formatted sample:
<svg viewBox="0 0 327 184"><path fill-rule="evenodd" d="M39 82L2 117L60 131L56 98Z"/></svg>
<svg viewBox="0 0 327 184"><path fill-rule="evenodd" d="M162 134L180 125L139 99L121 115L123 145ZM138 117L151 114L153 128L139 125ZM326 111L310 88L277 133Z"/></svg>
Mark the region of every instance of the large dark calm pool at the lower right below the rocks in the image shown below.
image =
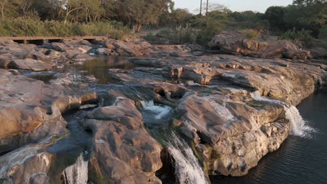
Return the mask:
<svg viewBox="0 0 327 184"><path fill-rule="evenodd" d="M311 138L290 135L279 150L263 157L247 176L212 176L212 184L327 183L327 89L303 100L298 109L307 125L316 130Z"/></svg>

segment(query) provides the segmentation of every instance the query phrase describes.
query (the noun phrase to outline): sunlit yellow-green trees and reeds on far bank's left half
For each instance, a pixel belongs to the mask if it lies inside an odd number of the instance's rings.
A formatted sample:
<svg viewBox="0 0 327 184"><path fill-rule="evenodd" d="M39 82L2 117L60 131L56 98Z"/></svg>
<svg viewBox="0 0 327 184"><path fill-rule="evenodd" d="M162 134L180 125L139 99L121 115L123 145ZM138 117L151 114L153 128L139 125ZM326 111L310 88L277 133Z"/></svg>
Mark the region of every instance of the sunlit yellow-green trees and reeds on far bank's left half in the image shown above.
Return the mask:
<svg viewBox="0 0 327 184"><path fill-rule="evenodd" d="M121 38L170 9L171 0L0 0L0 36Z"/></svg>

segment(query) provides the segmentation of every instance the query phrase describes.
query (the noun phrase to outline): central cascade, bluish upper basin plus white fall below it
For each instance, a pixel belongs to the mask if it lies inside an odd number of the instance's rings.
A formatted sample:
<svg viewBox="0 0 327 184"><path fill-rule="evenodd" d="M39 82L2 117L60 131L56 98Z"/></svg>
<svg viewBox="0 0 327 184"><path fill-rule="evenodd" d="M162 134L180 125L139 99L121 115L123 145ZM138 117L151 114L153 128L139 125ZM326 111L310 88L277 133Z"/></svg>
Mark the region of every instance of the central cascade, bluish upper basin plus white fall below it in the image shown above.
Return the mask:
<svg viewBox="0 0 327 184"><path fill-rule="evenodd" d="M151 114L144 114L143 118L147 125L152 126L157 124L158 121L162 123L168 123L169 116L171 112L171 107L165 105L154 105L153 101L150 102L141 102L143 109L146 112ZM154 118L150 118L153 116ZM166 120L162 121L162 120ZM159 130L162 130L164 125L159 127ZM156 129L152 130L156 131ZM164 131L164 142L168 148L168 152L173 157L174 167L175 167L175 176L178 178L181 184L205 184L208 183L205 173L201 168L201 165L198 162L198 159L194 155L191 147L187 142L181 139L173 130ZM154 132L156 134L156 132Z"/></svg>

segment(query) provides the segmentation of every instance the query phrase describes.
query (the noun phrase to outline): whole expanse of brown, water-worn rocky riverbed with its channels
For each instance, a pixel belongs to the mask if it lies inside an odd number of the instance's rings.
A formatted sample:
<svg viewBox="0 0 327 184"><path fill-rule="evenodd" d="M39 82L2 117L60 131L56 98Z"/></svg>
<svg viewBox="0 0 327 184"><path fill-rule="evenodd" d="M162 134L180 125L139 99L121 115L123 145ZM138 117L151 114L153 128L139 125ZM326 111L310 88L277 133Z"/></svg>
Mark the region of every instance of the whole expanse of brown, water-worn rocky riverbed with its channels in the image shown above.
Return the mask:
<svg viewBox="0 0 327 184"><path fill-rule="evenodd" d="M295 106L326 62L240 39L1 40L0 183L210 183L310 136Z"/></svg>

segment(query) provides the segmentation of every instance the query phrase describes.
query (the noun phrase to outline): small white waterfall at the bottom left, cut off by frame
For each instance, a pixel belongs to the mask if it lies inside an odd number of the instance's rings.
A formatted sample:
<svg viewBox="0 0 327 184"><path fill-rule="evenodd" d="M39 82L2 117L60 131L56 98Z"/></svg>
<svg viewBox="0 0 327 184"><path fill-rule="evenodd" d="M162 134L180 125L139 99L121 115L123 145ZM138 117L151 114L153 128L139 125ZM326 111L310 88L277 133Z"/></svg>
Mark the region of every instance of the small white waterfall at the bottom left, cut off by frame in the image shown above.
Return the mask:
<svg viewBox="0 0 327 184"><path fill-rule="evenodd" d="M64 176L65 184L86 184L88 179L87 165L83 155L80 155L76 163L67 167L62 173Z"/></svg>

